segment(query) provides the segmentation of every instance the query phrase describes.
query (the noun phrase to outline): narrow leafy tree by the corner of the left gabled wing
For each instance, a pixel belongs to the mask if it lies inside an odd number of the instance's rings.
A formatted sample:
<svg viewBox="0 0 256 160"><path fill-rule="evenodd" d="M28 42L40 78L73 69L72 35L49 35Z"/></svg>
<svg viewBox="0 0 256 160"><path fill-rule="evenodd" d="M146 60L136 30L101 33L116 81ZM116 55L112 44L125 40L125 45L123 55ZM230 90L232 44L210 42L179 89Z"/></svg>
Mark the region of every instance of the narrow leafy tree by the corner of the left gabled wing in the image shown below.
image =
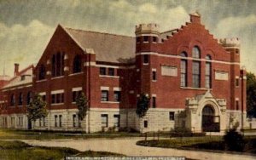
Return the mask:
<svg viewBox="0 0 256 160"><path fill-rule="evenodd" d="M88 100L83 92L77 97L76 105L79 109L79 120L83 120L88 111Z"/></svg>

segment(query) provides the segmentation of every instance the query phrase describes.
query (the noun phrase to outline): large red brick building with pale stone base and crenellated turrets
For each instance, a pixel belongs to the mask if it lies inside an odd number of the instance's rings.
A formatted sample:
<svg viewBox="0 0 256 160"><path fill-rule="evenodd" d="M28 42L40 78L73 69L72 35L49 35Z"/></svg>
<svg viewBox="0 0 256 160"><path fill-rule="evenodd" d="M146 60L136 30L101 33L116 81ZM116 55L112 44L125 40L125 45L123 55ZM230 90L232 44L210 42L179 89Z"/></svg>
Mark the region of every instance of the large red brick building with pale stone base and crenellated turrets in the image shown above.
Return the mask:
<svg viewBox="0 0 256 160"><path fill-rule="evenodd" d="M240 42L215 39L198 13L172 31L160 32L156 24L136 26L135 37L57 26L38 64L15 71L2 89L7 97L2 127L19 128L21 116L20 128L30 127L31 93L42 95L49 109L35 129L222 132L237 122L240 128L246 125ZM20 84L22 77L27 80ZM81 92L90 109L79 122L75 98ZM140 119L135 110L142 93L150 97L150 107Z"/></svg>

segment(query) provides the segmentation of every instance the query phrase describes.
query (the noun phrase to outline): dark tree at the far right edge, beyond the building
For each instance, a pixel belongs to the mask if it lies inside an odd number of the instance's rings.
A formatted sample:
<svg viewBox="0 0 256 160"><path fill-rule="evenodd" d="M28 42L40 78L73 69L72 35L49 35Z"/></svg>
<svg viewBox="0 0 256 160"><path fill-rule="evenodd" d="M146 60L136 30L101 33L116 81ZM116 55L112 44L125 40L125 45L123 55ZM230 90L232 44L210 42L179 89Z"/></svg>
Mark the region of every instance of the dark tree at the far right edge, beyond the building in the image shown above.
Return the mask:
<svg viewBox="0 0 256 160"><path fill-rule="evenodd" d="M247 117L256 117L256 77L247 72Z"/></svg>

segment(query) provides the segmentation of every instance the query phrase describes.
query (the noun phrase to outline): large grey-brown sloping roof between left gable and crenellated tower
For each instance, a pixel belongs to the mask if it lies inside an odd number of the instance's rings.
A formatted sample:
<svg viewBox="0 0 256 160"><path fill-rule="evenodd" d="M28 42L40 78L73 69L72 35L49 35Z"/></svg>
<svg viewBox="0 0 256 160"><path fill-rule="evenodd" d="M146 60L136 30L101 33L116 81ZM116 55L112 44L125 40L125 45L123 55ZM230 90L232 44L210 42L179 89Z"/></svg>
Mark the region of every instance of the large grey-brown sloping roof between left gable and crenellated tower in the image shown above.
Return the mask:
<svg viewBox="0 0 256 160"><path fill-rule="evenodd" d="M135 60L135 37L64 28L79 47L93 49L97 61L131 63Z"/></svg>

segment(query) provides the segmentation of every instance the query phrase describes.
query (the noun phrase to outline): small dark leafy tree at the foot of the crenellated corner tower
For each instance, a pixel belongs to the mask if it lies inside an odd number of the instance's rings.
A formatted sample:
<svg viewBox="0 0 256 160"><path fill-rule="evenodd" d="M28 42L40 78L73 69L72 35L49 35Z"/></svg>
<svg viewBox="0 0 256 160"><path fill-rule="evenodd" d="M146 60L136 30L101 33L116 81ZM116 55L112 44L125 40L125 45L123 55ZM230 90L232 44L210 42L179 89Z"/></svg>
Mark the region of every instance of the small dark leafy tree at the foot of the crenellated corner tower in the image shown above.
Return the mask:
<svg viewBox="0 0 256 160"><path fill-rule="evenodd" d="M140 97L137 100L137 109L136 114L138 117L144 117L148 111L150 98L145 94L140 94Z"/></svg>

